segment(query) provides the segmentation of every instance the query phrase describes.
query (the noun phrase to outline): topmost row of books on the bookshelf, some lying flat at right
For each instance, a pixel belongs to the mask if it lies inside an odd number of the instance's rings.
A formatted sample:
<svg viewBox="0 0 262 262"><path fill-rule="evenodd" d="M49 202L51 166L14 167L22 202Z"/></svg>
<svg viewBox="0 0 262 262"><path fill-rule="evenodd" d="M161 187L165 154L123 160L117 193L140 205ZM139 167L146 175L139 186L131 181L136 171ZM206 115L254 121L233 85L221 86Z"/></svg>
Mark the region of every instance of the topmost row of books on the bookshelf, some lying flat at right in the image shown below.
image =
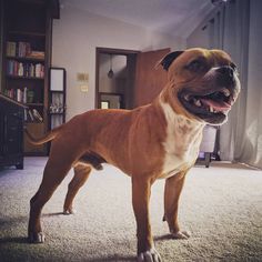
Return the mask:
<svg viewBox="0 0 262 262"><path fill-rule="evenodd" d="M7 56L20 58L44 59L44 52L31 49L30 42L7 42Z"/></svg>

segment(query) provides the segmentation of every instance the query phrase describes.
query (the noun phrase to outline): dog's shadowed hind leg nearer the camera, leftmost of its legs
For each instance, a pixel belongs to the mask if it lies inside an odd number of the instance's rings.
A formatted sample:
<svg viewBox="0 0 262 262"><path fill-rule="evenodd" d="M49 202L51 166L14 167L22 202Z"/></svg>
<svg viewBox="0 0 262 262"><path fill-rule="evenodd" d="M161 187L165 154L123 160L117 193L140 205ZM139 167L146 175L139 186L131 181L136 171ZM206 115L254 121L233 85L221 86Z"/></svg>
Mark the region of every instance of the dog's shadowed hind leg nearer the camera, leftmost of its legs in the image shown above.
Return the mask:
<svg viewBox="0 0 262 262"><path fill-rule="evenodd" d="M28 225L28 240L31 243L44 242L44 234L41 229L41 211L43 205L52 196L54 190L62 182L69 170L71 169L70 161L49 158L43 171L42 183L30 201L30 218Z"/></svg>

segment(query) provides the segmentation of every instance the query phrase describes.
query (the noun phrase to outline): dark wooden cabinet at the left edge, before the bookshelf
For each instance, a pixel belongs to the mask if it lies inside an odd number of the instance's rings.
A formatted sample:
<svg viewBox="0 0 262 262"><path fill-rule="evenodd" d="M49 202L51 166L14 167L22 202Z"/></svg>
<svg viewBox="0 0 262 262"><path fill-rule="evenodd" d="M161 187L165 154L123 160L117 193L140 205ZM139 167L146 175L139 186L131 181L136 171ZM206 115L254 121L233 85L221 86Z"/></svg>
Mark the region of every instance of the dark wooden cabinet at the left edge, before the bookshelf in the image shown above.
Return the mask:
<svg viewBox="0 0 262 262"><path fill-rule="evenodd" d="M0 167L23 169L24 105L0 94Z"/></svg>

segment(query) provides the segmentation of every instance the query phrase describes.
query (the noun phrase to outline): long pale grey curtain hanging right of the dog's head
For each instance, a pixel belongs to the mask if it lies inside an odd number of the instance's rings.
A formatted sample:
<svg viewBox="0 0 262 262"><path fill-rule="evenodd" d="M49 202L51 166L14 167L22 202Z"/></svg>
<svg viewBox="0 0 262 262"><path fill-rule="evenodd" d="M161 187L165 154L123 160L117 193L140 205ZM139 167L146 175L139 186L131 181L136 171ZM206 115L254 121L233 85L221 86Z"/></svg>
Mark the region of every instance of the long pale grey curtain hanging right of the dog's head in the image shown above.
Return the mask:
<svg viewBox="0 0 262 262"><path fill-rule="evenodd" d="M208 26L210 47L231 54L242 85L228 123L220 129L220 157L258 168L262 168L262 71L253 62L262 60L256 41L256 33L262 34L261 3L260 0L228 1Z"/></svg>

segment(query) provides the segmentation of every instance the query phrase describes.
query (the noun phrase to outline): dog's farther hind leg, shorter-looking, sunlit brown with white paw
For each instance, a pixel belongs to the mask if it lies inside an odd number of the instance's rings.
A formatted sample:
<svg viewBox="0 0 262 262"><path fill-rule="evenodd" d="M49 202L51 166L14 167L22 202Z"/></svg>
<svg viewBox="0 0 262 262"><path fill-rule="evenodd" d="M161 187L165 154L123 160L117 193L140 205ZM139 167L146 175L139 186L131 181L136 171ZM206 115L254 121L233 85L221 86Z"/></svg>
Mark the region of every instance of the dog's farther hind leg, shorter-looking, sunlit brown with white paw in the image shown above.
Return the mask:
<svg viewBox="0 0 262 262"><path fill-rule="evenodd" d="M73 199L77 195L79 189L88 180L90 172L90 165L78 164L74 168L74 177L68 185L68 193L63 204L63 213L64 214L72 214L74 210L72 208Z"/></svg>

